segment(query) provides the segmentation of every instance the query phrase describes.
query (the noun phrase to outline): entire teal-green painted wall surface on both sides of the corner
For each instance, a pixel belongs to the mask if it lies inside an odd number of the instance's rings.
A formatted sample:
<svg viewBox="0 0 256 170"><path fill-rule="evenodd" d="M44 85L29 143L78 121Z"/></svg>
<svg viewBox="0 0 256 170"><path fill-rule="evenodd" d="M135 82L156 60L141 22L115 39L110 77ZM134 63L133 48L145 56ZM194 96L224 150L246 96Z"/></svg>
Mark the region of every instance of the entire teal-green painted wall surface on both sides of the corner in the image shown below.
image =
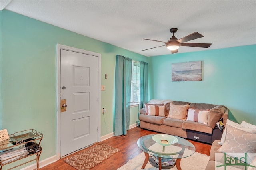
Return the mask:
<svg viewBox="0 0 256 170"><path fill-rule="evenodd" d="M145 57L7 10L0 11L0 129L44 134L40 160L56 154L56 44L102 55L101 136L114 129L115 55L149 63L150 99L226 105L232 120L256 124L256 45ZM171 64L202 61L203 81L172 82ZM108 74L108 79L105 79ZM138 122L131 108L130 125ZM136 117L136 118L135 118ZM7 168L8 166L4 167Z"/></svg>

